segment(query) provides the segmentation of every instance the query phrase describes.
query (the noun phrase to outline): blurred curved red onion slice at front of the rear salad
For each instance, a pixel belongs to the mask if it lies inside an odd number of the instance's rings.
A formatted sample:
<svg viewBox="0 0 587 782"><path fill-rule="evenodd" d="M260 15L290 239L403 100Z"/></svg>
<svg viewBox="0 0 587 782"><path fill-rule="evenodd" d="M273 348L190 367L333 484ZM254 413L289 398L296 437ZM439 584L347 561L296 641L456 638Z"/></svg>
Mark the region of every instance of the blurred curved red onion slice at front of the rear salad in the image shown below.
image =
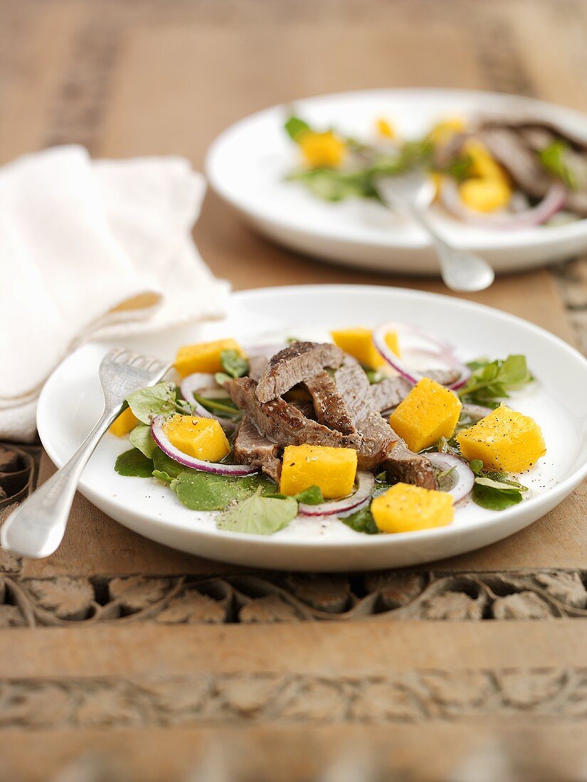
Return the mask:
<svg viewBox="0 0 587 782"><path fill-rule="evenodd" d="M459 195L459 185L453 179L445 178L440 190L441 203L458 217L463 223L474 225L477 228L495 228L496 230L520 230L521 228L533 228L536 225L546 223L554 214L559 212L567 201L567 190L560 182L554 181L548 192L536 206L520 212L495 213L481 215L466 206Z"/></svg>

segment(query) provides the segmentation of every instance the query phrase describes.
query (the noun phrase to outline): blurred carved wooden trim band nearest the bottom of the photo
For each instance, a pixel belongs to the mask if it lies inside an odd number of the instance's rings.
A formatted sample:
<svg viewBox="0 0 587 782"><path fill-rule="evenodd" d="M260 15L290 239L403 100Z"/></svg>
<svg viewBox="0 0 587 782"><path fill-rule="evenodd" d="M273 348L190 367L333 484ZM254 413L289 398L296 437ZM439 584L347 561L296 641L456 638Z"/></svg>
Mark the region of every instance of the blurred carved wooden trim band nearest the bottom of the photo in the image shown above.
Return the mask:
<svg viewBox="0 0 587 782"><path fill-rule="evenodd" d="M587 668L5 680L0 729L587 719Z"/></svg>

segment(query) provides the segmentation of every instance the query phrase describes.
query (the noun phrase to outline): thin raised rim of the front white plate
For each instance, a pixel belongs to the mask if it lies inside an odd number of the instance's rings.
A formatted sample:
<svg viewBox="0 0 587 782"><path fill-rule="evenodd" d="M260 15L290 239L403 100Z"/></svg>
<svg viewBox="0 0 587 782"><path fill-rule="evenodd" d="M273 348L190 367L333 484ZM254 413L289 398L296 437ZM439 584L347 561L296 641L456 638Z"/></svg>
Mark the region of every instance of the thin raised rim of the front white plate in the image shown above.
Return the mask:
<svg viewBox="0 0 587 782"><path fill-rule="evenodd" d="M230 301L232 300L232 297L236 297L237 299L243 299L247 300L247 297L250 296L272 296L275 292L304 292L304 291L330 291L330 292L352 292L352 291L360 291L360 292L368 292L373 295L380 295L380 296L399 296L400 298L409 298L409 297L416 297L416 299L420 300L443 300L445 303L450 304L452 307L457 307L462 310L470 311L470 310L484 310L489 312L490 314L497 314L499 317L503 317L506 319L506 321L510 321L513 325L522 326L524 328L529 329L531 332L535 332L541 339L546 339L550 343L553 343L556 347L558 347L561 350L564 350L565 353L569 355L574 361L577 361L579 365L582 366L582 371L585 371L585 374L587 375L587 358L585 358L582 353L580 353L574 346L571 346L569 343L565 342L564 339L561 339L559 336L554 335L552 332L547 331L545 328L542 328L542 326L538 326L534 323L531 323L531 321L526 321L524 318L514 315L508 312L504 312L502 310L498 310L496 307L491 307L487 304L481 304L472 302L470 300L464 300L460 299L458 297L454 296L447 296L445 294L441 293L434 293L429 291L423 291L419 289L406 289L406 288L391 288L385 285L345 285L345 284L319 284L319 285L279 285L279 286L272 286L267 288L256 288L256 289L245 289L241 291L231 292L229 296L229 303L228 307L230 306ZM148 335L146 335L148 337ZM38 400L38 408L37 408L37 427L38 427L38 434L41 439L41 443L43 447L45 448L45 451L49 455L49 458L53 461L54 464L56 464L58 467L63 465L63 461L56 457L56 452L52 448L51 444L51 437L48 436L48 429L46 427L46 421L49 421L49 417L45 419L45 408L49 404L48 401L48 394L51 393L52 385L55 382L59 381L59 373L62 371L62 368L64 364L69 363L70 361L74 361L74 358L76 357L77 353L79 351L84 350L88 346L99 346L103 344L104 346L110 345L113 341L96 341L96 342L88 342L84 345L80 346L75 350L73 353L70 353L69 356L67 356L63 361L61 361L58 366L52 371L51 375L49 375L49 378L45 382L43 388L41 389L41 394L39 396ZM536 505L543 504L543 505L549 505L550 508L556 507L556 505L560 504L560 502L564 499L564 497L567 497L571 491L578 486L578 483L581 482L583 479L585 479L585 476L587 476L587 458L585 458L585 461L583 461L582 464L577 465L573 471L570 473L570 475L567 475L563 480L560 481L560 483L557 483L556 486L553 486L553 488L547 490L544 493L537 494L535 497L531 497L528 500L525 500L524 502L517 504L516 506L513 506L512 508L506 509L506 511L494 511L494 513L491 516L488 516L487 519L484 519L481 522L476 522L476 525L478 526L487 526L488 524L504 524L506 522L512 522L515 523L517 518L521 518L524 515L528 513L528 510L530 508L535 508ZM96 504L98 507L100 507L100 504L107 504L107 505L113 505L116 506L115 498L112 497L104 497L103 495L100 495L98 492L95 492L93 490L92 486L88 486L85 484L83 475L81 478L81 481L78 486L78 490L88 498L92 503ZM96 498L96 500L95 500ZM551 500L554 500L553 503L551 503ZM106 513L109 513L109 511L105 511ZM173 524L168 524L167 522L162 521L160 518L154 518L149 515L145 515L142 512L136 512L134 509L130 510L128 508L123 508L123 512L125 514L128 514L129 512L131 515L135 515L135 518L144 520L149 526L157 526L160 529L178 529L177 526L174 526ZM202 511L206 512L206 511ZM214 511L208 511L208 512L214 512ZM546 510L545 512L548 512ZM534 521L537 521L538 518L541 518L542 514L538 515L537 518L535 518ZM524 524L523 526L529 526L529 524L534 523L528 522L527 524ZM123 523L124 522L120 522ZM418 540L427 542L430 542L430 540L434 540L435 538L441 538L443 540L446 539L452 539L455 536L459 536L460 534L463 534L465 531L469 532L470 529L474 528L467 528L464 530L462 527L459 526L453 526L448 525L444 527L437 527L432 529L425 529L425 530L415 530L412 532L405 532L405 533L394 533L394 535L384 535L384 536L370 536L370 535L362 535L360 537L355 538L349 537L348 539L342 539L342 540L320 540L320 539L312 539L312 540L281 540L279 538L275 538L273 536L264 536L264 535L253 535L253 534L247 534L247 533L233 533L228 532L226 530L221 529L213 529L213 530L207 530L207 529L197 529L196 527L193 530L190 530L190 533L196 533L197 536L205 536L209 540L234 540L236 541L242 541L243 543L253 543L257 547L273 547L273 548L286 548L289 550L301 550L304 548L310 548L314 551L332 551L332 550L347 550L349 547L359 547L361 550L364 550L365 548L369 547L394 547L394 541L398 541L398 543L411 543L411 542L417 542ZM227 538L228 536L228 538ZM506 537L502 536L502 537ZM501 540L502 538L499 538ZM474 548L470 549L470 551L474 551ZM428 561L428 560L426 560Z"/></svg>

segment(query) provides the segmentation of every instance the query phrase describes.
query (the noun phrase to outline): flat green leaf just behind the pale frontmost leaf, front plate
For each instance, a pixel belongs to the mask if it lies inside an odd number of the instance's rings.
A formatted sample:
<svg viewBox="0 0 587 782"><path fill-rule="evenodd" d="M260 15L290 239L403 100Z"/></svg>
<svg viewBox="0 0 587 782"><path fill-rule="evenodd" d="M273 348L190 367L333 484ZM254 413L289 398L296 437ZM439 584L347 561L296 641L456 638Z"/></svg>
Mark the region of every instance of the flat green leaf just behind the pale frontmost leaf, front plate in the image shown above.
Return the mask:
<svg viewBox="0 0 587 782"><path fill-rule="evenodd" d="M193 511L221 511L235 500L244 500L260 490L262 495L273 494L277 486L261 475L233 478L211 472L184 470L172 485L178 499ZM279 500L282 502L283 500Z"/></svg>

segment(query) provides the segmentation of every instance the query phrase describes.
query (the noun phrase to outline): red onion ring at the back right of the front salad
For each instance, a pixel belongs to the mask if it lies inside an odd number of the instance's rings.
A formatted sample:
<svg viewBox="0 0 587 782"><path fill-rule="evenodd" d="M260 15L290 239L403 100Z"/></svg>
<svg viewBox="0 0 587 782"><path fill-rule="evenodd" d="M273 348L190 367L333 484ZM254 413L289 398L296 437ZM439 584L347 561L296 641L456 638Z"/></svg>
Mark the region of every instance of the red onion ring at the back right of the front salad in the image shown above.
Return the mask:
<svg viewBox="0 0 587 782"><path fill-rule="evenodd" d="M402 356L406 353L416 353L416 355L434 356L439 363L445 364L451 369L455 369L459 372L459 378L455 382L450 383L447 388L456 391L461 388L467 382L471 376L470 369L463 364L462 361L456 357L451 345L446 343L442 339L425 332L422 328L412 325L411 323L399 323L397 321L388 321L382 323L373 329L373 344L376 349L381 353L381 356L387 361L395 371L397 371L402 378L405 378L412 386L421 380L426 375L422 375L412 368L405 365L402 358L395 355L391 347L387 345L385 337L389 332L400 332L405 335L405 340L402 340ZM409 350L407 343L408 339L415 341L416 345Z"/></svg>

